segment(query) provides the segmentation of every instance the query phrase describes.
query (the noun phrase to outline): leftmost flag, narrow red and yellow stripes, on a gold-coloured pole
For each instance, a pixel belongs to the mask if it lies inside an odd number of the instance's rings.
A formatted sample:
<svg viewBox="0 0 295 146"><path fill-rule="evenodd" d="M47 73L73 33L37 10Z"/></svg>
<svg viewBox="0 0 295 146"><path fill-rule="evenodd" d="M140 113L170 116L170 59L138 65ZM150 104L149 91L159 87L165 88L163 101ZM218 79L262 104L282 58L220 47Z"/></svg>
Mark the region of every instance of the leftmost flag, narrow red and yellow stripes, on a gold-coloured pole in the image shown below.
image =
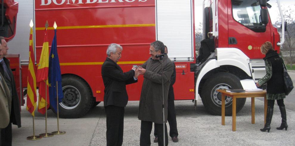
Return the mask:
<svg viewBox="0 0 295 146"><path fill-rule="evenodd" d="M30 47L29 47L29 68L28 68L28 88L27 88L27 110L35 116L35 109L37 107L36 94L36 65L35 52L33 43L33 29L30 31Z"/></svg>

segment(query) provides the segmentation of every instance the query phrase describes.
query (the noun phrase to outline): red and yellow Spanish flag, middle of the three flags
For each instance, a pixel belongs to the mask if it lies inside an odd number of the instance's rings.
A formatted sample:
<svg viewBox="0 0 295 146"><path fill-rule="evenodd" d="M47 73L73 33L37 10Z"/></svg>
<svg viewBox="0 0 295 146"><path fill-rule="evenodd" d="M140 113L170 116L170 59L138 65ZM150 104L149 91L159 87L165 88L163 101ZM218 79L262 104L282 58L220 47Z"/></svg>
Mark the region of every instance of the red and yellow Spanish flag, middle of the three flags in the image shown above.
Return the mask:
<svg viewBox="0 0 295 146"><path fill-rule="evenodd" d="M39 87L39 101L38 112L45 114L49 108L49 90L48 90L48 65L49 65L49 46L47 29L45 29L44 43L42 47L41 57L37 69L37 83ZM47 106L46 106L46 93L47 93ZM45 108L46 107L46 108Z"/></svg>

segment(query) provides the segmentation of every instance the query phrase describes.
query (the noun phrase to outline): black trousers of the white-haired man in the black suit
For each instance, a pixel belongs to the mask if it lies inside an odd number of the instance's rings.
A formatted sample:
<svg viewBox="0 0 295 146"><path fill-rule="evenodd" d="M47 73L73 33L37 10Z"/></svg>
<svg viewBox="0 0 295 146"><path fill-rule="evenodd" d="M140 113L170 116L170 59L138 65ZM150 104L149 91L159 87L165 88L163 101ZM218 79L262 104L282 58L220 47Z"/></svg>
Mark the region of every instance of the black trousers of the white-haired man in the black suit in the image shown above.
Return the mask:
<svg viewBox="0 0 295 146"><path fill-rule="evenodd" d="M107 146L121 146L123 143L124 109L120 106L105 106Z"/></svg>

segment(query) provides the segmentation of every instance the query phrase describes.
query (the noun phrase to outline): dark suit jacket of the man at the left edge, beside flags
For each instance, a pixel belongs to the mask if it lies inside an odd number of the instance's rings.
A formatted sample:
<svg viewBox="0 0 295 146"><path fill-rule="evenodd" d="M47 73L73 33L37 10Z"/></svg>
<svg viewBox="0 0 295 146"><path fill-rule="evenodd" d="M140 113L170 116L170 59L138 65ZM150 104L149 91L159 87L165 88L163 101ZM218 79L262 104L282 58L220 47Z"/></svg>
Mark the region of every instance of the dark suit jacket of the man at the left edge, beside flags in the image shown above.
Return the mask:
<svg viewBox="0 0 295 146"><path fill-rule="evenodd" d="M14 81L13 73L10 68L9 60L5 57L3 57L3 60L9 71L9 76L11 77L12 95L10 97L12 99L11 100L12 108L11 108L10 122L12 122L14 125L17 125L18 128L20 128L21 127L21 111L20 111L18 94L16 92L15 81ZM2 74L2 76L5 76L2 65L0 65L0 73Z"/></svg>

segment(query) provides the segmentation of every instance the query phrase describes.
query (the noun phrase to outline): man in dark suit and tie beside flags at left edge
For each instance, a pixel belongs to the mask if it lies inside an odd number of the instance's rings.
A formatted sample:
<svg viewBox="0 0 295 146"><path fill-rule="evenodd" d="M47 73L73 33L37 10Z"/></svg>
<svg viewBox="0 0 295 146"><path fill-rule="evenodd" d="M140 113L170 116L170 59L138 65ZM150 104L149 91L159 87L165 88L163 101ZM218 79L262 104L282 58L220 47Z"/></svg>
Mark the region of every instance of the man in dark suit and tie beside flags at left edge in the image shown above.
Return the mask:
<svg viewBox="0 0 295 146"><path fill-rule="evenodd" d="M0 72L7 84L7 87L10 91L11 97L11 113L10 113L10 122L6 128L1 129L1 145L11 145L12 144L12 126L11 123L17 125L18 128L21 127L21 112L19 105L19 98L16 92L15 81L13 77L13 73L10 69L9 60L4 56L7 55L7 50L9 49L7 46L7 42L4 37L0 37L2 53L0 56Z"/></svg>

